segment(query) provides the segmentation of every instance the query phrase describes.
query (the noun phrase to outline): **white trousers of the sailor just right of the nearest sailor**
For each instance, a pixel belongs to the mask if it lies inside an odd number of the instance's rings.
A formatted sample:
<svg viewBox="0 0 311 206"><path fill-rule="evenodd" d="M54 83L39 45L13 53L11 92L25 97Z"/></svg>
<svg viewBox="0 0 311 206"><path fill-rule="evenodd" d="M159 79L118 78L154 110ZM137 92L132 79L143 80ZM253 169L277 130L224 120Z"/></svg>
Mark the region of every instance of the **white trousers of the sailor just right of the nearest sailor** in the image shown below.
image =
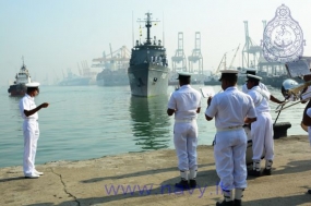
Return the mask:
<svg viewBox="0 0 311 206"><path fill-rule="evenodd" d="M274 158L273 123L270 112L258 113L251 124L253 160L260 160L265 149L265 159Z"/></svg>

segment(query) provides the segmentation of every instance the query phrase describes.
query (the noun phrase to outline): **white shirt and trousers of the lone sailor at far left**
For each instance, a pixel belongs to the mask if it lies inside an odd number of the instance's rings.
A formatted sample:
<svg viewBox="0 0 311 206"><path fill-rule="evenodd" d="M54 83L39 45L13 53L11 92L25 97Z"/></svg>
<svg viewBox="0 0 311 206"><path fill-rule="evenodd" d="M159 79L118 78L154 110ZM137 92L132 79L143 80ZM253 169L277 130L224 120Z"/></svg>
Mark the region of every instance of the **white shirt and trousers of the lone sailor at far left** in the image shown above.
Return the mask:
<svg viewBox="0 0 311 206"><path fill-rule="evenodd" d="M38 125L38 113L26 117L24 110L35 109L35 98L29 95L25 95L20 100L20 111L24 119L23 122L23 134L24 134L24 158L23 158L23 170L25 175L31 175L35 171L35 158L37 150L37 142L39 138L39 125Z"/></svg>

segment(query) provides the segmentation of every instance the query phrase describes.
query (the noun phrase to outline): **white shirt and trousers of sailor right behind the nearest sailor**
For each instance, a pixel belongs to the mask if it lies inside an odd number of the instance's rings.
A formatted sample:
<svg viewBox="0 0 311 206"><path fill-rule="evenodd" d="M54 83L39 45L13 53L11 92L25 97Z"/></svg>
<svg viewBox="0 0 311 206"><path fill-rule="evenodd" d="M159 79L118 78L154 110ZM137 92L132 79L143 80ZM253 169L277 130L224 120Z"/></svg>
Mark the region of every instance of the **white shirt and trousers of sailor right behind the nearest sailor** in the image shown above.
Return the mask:
<svg viewBox="0 0 311 206"><path fill-rule="evenodd" d="M252 150L253 160L261 160L263 150L265 150L265 159L274 159L274 142L273 142L273 122L270 114L270 93L260 86L249 89L248 95L253 99L258 120L252 123Z"/></svg>

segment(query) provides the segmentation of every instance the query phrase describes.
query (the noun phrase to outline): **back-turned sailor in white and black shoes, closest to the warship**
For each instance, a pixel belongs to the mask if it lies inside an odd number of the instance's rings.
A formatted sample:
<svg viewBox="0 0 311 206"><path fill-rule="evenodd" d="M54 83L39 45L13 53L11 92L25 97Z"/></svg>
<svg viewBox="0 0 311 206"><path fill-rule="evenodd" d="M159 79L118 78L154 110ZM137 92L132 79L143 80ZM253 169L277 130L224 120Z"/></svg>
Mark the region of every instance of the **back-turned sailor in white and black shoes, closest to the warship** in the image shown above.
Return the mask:
<svg viewBox="0 0 311 206"><path fill-rule="evenodd" d="M176 186L181 189L196 186L196 116L201 110L202 97L198 90L190 86L190 77L191 73L179 73L180 88L171 94L167 109L168 116L175 113L174 144L181 175L181 181L176 183Z"/></svg>

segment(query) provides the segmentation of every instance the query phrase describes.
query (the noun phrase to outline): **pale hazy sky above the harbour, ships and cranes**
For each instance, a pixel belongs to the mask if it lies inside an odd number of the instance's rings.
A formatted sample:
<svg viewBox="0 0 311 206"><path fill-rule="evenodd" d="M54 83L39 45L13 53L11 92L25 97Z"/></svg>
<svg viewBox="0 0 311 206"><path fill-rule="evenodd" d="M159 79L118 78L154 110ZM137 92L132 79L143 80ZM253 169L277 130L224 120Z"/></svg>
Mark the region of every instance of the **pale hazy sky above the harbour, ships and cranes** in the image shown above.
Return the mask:
<svg viewBox="0 0 311 206"><path fill-rule="evenodd" d="M224 53L239 44L235 64L240 65L243 21L249 22L249 34L260 45L262 20L271 21L283 3L289 7L291 16L303 31L307 41L303 56L311 56L311 1L0 0L0 85L14 80L22 56L33 77L40 82L49 75L51 82L61 78L67 69L77 74L77 63L82 61L91 65L92 59L101 57L103 51L109 53L109 44L113 51L122 46L131 50L132 27L137 39L139 27L144 24L136 20L144 19L146 12L160 21L151 34L157 39L163 39L165 34L169 66L177 49L178 32L183 32L187 57L194 49L195 32L201 32L204 70L215 70Z"/></svg>

